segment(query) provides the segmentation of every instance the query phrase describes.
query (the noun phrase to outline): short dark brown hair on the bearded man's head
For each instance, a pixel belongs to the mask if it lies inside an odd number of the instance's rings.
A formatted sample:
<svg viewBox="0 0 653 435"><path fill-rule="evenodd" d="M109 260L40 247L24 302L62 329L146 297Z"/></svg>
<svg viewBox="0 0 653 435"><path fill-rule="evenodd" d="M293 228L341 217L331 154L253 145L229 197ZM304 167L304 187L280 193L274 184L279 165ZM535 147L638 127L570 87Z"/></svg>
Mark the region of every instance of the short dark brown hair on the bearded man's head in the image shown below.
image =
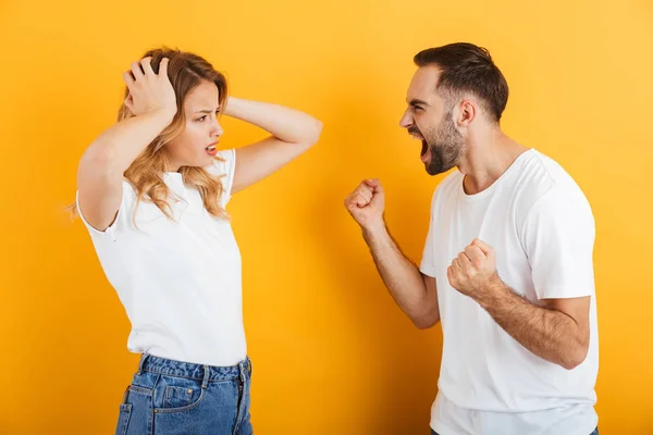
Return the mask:
<svg viewBox="0 0 653 435"><path fill-rule="evenodd" d="M445 95L476 95L498 123L508 102L508 84L486 49L455 42L422 50L414 61L420 67L438 66L441 70L438 90Z"/></svg>

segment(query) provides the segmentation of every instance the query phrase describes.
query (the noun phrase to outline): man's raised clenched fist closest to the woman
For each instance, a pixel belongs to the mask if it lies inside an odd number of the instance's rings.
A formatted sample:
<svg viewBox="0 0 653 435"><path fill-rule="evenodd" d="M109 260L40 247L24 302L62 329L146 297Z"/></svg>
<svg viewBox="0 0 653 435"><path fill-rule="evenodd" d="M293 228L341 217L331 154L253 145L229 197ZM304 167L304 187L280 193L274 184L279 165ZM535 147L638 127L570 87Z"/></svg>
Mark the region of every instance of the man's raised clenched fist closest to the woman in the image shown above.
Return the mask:
<svg viewBox="0 0 653 435"><path fill-rule="evenodd" d="M385 194L379 179L364 179L345 199L349 214L364 229L383 225Z"/></svg>

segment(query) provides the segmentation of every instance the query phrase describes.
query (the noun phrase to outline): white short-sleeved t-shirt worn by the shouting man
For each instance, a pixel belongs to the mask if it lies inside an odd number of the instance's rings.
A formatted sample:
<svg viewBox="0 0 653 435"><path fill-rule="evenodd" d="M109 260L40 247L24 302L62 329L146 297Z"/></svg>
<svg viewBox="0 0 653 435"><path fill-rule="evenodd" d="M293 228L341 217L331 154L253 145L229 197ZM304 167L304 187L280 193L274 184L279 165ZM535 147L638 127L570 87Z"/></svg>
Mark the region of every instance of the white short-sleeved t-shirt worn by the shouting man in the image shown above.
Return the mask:
<svg viewBox="0 0 653 435"><path fill-rule="evenodd" d="M420 265L435 277L444 336L431 427L440 435L589 435L599 369L589 202L534 149L479 194L467 195L463 179L455 171L435 189ZM537 357L449 285L448 265L475 238L494 248L502 281L535 304L591 296L584 362L568 371Z"/></svg>

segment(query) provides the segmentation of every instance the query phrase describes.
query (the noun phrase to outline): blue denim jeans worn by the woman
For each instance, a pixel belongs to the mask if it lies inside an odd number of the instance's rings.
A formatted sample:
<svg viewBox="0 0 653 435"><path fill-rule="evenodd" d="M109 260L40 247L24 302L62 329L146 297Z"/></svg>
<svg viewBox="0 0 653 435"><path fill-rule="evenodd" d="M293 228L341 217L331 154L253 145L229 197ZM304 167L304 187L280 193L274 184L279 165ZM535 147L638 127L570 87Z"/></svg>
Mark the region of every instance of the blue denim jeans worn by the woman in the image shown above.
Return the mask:
<svg viewBox="0 0 653 435"><path fill-rule="evenodd" d="M144 355L120 406L116 435L251 435L249 358L210 366Z"/></svg>

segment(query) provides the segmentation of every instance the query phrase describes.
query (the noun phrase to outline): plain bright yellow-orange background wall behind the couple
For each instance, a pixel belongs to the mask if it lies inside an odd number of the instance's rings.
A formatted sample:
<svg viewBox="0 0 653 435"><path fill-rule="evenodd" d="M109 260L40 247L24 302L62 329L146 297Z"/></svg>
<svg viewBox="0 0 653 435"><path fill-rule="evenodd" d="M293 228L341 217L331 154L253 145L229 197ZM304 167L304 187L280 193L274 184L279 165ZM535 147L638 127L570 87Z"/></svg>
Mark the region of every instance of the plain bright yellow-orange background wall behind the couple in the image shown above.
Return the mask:
<svg viewBox="0 0 653 435"><path fill-rule="evenodd" d="M593 207L602 434L653 434L650 1L4 0L0 40L0 433L114 431L137 357L85 228L61 208L79 156L114 122L121 73L161 44L206 57L235 96L324 123L308 154L230 208L257 433L428 433L441 330L417 331L394 304L342 201L380 177L390 228L420 260L442 176L398 127L411 58L467 40L507 77L504 129L560 162ZM263 136L224 127L224 147Z"/></svg>

